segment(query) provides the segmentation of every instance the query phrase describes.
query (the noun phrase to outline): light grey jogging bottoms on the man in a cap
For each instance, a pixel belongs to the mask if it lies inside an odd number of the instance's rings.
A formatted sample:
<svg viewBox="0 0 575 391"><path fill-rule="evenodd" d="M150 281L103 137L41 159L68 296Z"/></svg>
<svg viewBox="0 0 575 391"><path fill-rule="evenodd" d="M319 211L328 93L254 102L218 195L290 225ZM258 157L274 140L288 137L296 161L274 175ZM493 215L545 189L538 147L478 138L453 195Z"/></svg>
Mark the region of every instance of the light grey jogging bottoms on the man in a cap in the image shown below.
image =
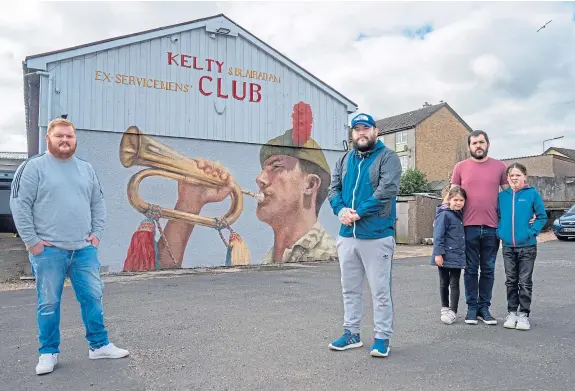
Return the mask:
<svg viewBox="0 0 575 391"><path fill-rule="evenodd" d="M343 291L343 327L360 332L363 318L363 285L369 283L373 300L374 336L390 339L393 334L391 260L395 251L392 236L382 239L354 239L338 236L336 241Z"/></svg>

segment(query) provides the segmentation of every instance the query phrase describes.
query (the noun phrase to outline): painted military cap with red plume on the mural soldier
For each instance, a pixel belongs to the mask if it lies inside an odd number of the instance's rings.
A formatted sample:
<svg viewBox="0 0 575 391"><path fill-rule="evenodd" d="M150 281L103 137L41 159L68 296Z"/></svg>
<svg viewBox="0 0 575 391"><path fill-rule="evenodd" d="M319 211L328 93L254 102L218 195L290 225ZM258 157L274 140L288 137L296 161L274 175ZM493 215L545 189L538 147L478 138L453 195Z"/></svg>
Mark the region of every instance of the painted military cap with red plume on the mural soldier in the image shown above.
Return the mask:
<svg viewBox="0 0 575 391"><path fill-rule="evenodd" d="M317 164L331 172L320 145L311 137L313 115L309 104L299 102L292 112L292 128L269 140L260 149L260 164L274 155L292 156Z"/></svg>

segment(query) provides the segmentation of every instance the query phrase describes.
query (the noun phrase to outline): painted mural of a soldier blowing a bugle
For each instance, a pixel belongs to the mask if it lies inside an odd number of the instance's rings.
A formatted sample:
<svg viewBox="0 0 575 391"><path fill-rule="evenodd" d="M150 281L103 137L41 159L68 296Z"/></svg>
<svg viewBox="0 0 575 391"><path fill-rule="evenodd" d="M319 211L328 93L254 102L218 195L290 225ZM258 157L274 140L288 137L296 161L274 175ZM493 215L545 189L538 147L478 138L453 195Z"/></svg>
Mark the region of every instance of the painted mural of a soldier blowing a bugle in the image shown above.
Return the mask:
<svg viewBox="0 0 575 391"><path fill-rule="evenodd" d="M132 235L123 270L181 268L196 226L217 231L225 246L226 266L250 264L249 248L237 232L241 227L232 228L243 212L244 195L257 200L255 217L273 231L273 243L264 264L336 260L335 240L318 220L327 198L331 170L321 147L311 137L312 128L310 105L294 105L292 128L260 148L256 193L237 185L229 169L218 162L187 157L143 134L136 126L128 128L120 142L122 165L150 168L133 175L128 183L128 201L145 218ZM256 163L248 159L246 164ZM173 209L149 204L139 196L138 186L149 176L178 181ZM201 215L206 204L222 202L227 197L231 205L223 216ZM162 218L167 219L165 228Z"/></svg>

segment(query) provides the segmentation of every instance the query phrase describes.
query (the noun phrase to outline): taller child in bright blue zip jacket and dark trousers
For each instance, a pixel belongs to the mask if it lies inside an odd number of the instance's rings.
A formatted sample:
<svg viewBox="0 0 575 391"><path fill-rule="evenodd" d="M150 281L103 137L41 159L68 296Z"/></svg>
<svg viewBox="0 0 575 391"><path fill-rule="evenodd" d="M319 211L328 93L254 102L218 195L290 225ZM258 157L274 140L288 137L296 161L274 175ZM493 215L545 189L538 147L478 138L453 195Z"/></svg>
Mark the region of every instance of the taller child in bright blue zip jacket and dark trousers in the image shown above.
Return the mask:
<svg viewBox="0 0 575 391"><path fill-rule="evenodd" d="M533 267L537 257L537 235L547 222L539 192L526 183L527 169L513 163L507 167L509 189L499 193L499 225L505 265L507 310L503 324L508 329L529 330ZM529 221L536 215L533 224ZM517 312L519 309L519 313Z"/></svg>

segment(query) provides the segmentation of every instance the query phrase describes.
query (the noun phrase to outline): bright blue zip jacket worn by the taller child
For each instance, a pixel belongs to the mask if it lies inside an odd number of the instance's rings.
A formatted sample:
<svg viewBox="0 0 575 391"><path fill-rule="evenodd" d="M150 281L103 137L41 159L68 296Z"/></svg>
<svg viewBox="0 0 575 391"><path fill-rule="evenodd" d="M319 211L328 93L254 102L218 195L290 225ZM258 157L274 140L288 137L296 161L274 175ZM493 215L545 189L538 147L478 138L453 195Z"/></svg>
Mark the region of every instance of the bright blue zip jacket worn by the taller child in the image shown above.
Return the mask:
<svg viewBox="0 0 575 391"><path fill-rule="evenodd" d="M526 247L537 244L537 235L547 222L545 205L537 189L525 185L519 190L508 188L498 197L497 234L504 247ZM533 225L529 220L536 214Z"/></svg>

